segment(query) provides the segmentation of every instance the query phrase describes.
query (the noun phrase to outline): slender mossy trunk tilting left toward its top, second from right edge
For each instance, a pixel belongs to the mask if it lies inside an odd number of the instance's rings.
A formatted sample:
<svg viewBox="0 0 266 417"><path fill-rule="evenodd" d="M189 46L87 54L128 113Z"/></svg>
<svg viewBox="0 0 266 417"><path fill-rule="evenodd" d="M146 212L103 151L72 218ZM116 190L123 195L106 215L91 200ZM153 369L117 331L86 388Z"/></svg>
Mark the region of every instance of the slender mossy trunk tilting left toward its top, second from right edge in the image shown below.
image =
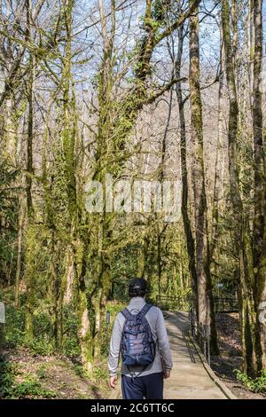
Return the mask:
<svg viewBox="0 0 266 417"><path fill-rule="evenodd" d="M247 374L254 374L254 272L250 254L250 236L244 216L243 203L239 189L239 169L237 161L237 140L239 123L239 104L237 97L234 62L232 56L230 5L222 3L223 44L225 69L229 89L228 152L231 203L235 221L234 244L239 256L239 304L242 337L243 368Z"/></svg>

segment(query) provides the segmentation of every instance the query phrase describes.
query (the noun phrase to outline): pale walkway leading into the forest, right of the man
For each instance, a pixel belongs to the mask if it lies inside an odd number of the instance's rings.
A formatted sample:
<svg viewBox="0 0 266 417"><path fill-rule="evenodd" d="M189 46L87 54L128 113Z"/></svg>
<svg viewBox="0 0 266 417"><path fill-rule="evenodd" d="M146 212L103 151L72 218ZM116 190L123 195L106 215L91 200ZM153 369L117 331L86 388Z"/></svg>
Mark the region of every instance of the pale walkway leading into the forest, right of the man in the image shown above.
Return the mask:
<svg viewBox="0 0 266 417"><path fill-rule="evenodd" d="M226 399L223 390L207 374L200 356L187 335L188 314L168 312L166 326L174 367L165 381L164 397L168 399ZM230 394L230 392L229 392Z"/></svg>

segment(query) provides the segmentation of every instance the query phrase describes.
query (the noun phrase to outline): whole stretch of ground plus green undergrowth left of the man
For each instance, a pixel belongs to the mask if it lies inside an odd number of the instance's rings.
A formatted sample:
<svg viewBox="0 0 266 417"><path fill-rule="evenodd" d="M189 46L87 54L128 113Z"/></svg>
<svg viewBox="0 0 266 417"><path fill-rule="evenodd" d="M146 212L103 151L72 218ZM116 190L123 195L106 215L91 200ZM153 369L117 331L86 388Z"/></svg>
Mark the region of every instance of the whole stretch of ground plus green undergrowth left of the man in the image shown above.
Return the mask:
<svg viewBox="0 0 266 417"><path fill-rule="evenodd" d="M110 323L103 323L101 355L87 371L81 363L78 318L74 306L64 311L64 338L56 347L49 309L43 303L35 309L34 339L25 338L25 300L19 310L9 294L1 294L6 306L4 349L0 356L0 398L101 398L109 393L107 355L113 321L125 303L110 301L106 311Z"/></svg>

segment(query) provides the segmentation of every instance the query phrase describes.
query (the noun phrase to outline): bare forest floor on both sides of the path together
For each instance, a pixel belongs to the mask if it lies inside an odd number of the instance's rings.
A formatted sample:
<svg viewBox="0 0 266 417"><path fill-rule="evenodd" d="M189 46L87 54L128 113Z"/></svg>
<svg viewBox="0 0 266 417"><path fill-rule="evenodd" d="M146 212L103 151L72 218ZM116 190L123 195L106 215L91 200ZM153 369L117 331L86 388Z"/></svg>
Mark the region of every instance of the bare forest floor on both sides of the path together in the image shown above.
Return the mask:
<svg viewBox="0 0 266 417"><path fill-rule="evenodd" d="M235 369L241 366L239 316L217 314L220 357L212 357L211 367L231 392L241 399L265 399L238 381ZM2 359L2 360L1 360ZM4 359L4 360L3 360ZM106 360L93 373L60 355L39 355L17 347L3 352L0 358L0 398L107 398Z"/></svg>

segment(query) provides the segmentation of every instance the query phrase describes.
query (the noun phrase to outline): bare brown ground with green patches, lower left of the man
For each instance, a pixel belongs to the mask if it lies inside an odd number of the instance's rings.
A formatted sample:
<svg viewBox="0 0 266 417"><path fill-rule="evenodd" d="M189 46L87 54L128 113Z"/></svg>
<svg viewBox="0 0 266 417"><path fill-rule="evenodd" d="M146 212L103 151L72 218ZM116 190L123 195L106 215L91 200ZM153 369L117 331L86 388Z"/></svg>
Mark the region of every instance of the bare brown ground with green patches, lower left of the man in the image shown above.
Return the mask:
<svg viewBox="0 0 266 417"><path fill-rule="evenodd" d="M82 366L67 358L33 355L27 349L5 351L3 358L0 397L101 399L108 395L100 366L93 374L84 374Z"/></svg>

